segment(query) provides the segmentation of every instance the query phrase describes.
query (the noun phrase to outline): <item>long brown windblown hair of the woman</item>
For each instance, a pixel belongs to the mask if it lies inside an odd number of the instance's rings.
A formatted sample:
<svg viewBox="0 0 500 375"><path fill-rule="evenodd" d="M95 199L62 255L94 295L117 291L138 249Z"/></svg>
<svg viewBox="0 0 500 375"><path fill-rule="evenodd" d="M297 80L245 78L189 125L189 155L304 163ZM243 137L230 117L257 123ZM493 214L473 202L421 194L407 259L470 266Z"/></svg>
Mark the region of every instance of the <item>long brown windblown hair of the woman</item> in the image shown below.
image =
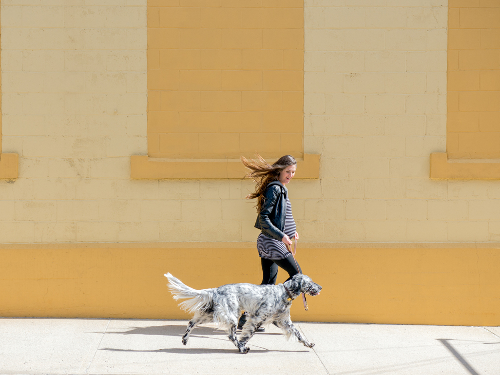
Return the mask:
<svg viewBox="0 0 500 375"><path fill-rule="evenodd" d="M243 178L251 178L256 182L255 191L246 195L246 199L257 198L257 212L260 212L260 207L264 202L264 191L269 182L275 181L279 177L279 173L290 165L296 165L295 158L291 155L284 155L277 159L272 165L265 161L262 156L257 153L257 158L248 160L241 156L241 162L251 171Z"/></svg>

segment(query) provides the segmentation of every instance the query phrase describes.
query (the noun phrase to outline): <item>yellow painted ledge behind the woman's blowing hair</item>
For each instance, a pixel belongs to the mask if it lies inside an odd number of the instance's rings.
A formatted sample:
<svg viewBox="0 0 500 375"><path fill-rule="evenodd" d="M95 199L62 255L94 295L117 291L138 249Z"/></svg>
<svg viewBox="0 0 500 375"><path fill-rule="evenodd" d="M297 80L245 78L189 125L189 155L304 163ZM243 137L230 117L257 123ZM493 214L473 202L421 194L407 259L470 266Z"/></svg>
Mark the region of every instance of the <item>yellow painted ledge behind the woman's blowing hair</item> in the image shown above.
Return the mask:
<svg viewBox="0 0 500 375"><path fill-rule="evenodd" d="M160 159L130 156L130 178L243 178L247 169L239 159ZM297 159L295 178L319 178L319 155Z"/></svg>

